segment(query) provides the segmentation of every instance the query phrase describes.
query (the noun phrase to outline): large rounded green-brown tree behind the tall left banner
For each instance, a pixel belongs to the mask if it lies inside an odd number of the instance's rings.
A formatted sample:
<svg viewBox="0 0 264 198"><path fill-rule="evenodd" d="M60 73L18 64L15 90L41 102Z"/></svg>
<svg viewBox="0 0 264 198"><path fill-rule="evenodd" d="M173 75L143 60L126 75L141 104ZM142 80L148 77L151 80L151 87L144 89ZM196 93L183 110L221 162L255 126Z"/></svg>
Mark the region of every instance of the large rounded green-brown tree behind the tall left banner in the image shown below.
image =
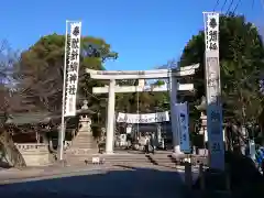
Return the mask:
<svg viewBox="0 0 264 198"><path fill-rule="evenodd" d="M78 98L86 98L89 106L97 103L98 98L92 97L91 88L101 85L98 80L91 80L86 75L86 68L105 69L100 57L89 57L89 45L105 46L100 56L117 56L110 52L110 45L101 38L81 37L80 68ZM23 106L30 106L31 111L61 111L64 74L65 36L58 34L46 35L21 55L16 68L15 79L18 87L23 92ZM97 98L97 99L95 99Z"/></svg>

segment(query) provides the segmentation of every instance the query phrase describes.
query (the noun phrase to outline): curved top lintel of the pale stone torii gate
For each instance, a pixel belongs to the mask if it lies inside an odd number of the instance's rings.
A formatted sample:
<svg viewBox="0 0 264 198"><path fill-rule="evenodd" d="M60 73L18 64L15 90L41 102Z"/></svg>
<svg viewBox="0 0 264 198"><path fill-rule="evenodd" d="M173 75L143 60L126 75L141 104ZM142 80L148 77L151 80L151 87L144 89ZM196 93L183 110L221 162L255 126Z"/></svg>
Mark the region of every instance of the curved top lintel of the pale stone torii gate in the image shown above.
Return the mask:
<svg viewBox="0 0 264 198"><path fill-rule="evenodd" d="M158 79L169 77L183 77L195 74L199 64L180 67L178 69L155 69L155 70L94 70L86 69L92 79Z"/></svg>

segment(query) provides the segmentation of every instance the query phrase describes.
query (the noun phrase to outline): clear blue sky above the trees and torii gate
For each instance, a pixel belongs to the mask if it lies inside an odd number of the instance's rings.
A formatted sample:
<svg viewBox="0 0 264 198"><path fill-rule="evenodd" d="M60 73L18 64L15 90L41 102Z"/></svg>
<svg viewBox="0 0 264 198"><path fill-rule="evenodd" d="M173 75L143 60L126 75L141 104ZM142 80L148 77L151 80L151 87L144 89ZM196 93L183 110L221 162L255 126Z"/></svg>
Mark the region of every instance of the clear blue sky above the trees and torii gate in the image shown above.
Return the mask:
<svg viewBox="0 0 264 198"><path fill-rule="evenodd" d="M238 1L234 0L233 8ZM42 35L65 34L66 20L81 20L82 35L102 37L119 53L118 61L106 64L107 69L150 69L180 56L191 35L204 29L202 11L212 11L216 2L8 0L1 2L0 40L7 38L15 50L25 50ZM219 1L217 11L223 2ZM237 12L257 26L264 25L261 0L242 0Z"/></svg>

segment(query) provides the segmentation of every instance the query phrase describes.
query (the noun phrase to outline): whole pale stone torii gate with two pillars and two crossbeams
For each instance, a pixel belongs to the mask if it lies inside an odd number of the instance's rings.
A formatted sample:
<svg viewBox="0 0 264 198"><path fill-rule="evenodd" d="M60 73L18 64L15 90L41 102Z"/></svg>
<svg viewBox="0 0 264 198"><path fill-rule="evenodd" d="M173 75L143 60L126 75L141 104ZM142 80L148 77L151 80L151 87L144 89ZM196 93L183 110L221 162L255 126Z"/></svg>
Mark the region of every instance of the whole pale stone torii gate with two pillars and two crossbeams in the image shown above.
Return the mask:
<svg viewBox="0 0 264 198"><path fill-rule="evenodd" d="M177 118L175 113L175 103L177 102L177 91L191 91L194 90L193 84L178 84L178 79L194 75L199 64L180 67L178 69L155 69L155 70L94 70L87 69L92 79L108 79L109 86L94 87L94 94L107 94L108 99L108 114L107 114L107 140L106 140L106 153L111 154L113 152L113 136L114 136L114 106L116 106L116 92L143 92L143 91L169 91L170 96L170 120L173 131L174 152L180 153L179 150L179 134ZM119 79L164 79L167 78L169 84L161 87L147 88L142 86L117 86L116 80Z"/></svg>

